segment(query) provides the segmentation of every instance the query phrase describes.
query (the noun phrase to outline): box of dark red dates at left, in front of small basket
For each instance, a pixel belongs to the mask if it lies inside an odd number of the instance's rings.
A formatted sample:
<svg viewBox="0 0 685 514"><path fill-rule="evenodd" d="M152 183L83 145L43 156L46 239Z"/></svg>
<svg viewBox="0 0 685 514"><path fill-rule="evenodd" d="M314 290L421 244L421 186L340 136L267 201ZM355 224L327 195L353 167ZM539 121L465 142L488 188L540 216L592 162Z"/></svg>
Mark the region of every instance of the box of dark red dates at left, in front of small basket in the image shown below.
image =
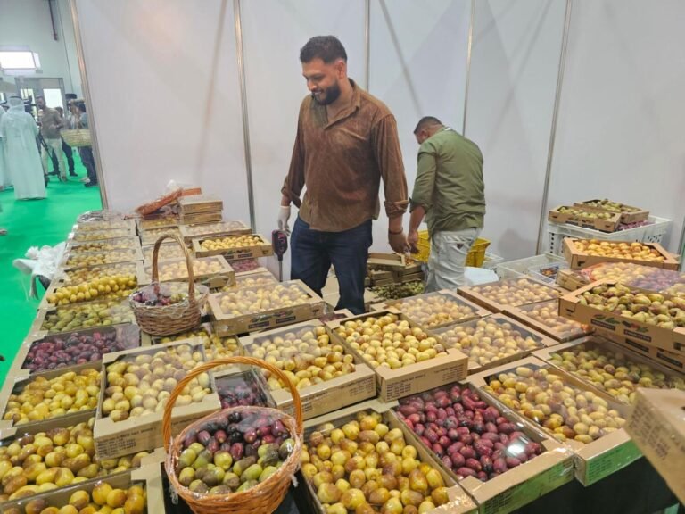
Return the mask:
<svg viewBox="0 0 685 514"><path fill-rule="evenodd" d="M140 346L140 328L136 325L89 328L69 334L29 337L14 359L15 376L60 369L87 362L102 361L109 352Z"/></svg>

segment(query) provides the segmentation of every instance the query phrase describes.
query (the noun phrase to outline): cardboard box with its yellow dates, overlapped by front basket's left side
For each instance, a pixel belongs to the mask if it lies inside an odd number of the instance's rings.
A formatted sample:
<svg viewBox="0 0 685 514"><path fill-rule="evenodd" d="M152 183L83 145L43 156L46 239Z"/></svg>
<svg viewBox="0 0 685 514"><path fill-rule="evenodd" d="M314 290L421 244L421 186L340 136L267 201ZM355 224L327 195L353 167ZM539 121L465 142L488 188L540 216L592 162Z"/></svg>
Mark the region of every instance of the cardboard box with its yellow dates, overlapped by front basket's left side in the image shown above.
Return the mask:
<svg viewBox="0 0 685 514"><path fill-rule="evenodd" d="M161 419L170 392L205 362L202 341L156 344L103 357L102 394L95 419L95 448L104 459L163 444ZM194 378L175 404L172 431L220 409L214 378Z"/></svg>

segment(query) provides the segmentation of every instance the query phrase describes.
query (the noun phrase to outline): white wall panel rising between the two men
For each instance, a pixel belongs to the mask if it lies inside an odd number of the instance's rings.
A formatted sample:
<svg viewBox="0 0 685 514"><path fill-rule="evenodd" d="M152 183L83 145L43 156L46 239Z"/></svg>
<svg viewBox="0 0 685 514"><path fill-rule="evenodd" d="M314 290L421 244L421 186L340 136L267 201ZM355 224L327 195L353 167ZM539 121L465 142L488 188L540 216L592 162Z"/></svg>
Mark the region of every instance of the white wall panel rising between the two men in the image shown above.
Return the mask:
<svg viewBox="0 0 685 514"><path fill-rule="evenodd" d="M409 194L417 175L417 121L435 116L461 131L470 18L470 0L371 3L369 91L397 119ZM382 213L374 225L378 251L390 251L387 228Z"/></svg>

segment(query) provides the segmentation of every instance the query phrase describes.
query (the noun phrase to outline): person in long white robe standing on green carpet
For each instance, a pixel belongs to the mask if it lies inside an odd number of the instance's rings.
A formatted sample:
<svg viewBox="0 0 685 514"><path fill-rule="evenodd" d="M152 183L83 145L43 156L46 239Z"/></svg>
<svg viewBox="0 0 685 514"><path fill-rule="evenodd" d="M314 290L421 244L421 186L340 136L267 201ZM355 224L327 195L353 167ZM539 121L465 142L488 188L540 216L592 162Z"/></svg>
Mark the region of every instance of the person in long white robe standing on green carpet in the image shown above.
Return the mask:
<svg viewBox="0 0 685 514"><path fill-rule="evenodd" d="M45 181L36 146L38 128L20 96L10 96L10 110L0 120L5 162L17 200L45 198Z"/></svg>

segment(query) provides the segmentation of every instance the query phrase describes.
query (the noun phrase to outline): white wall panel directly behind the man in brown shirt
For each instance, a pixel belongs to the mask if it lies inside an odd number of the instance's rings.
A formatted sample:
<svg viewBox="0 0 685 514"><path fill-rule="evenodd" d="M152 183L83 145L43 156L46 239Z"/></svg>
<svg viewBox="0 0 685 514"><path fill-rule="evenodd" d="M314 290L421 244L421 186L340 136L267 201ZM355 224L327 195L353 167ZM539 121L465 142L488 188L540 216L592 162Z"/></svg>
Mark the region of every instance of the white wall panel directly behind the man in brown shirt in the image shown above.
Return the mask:
<svg viewBox="0 0 685 514"><path fill-rule="evenodd" d="M309 37L332 34L342 41L352 79L363 81L364 2L249 0L242 3L243 45L250 117L257 229L276 228L281 187L288 172L302 98L300 48ZM291 228L297 208L293 206ZM276 269L276 258L269 259ZM290 276L290 253L284 275Z"/></svg>

